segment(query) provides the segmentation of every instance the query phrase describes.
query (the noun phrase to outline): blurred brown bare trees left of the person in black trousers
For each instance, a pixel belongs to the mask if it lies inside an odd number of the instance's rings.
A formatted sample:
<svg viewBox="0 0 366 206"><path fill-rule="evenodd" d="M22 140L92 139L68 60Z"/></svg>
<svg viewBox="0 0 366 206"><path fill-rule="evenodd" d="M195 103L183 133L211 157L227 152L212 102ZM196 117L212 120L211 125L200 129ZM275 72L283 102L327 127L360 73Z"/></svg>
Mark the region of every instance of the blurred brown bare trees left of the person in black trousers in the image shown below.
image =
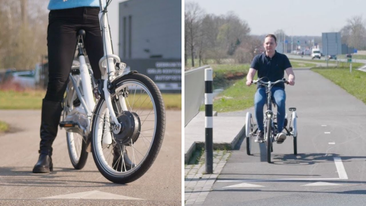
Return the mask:
<svg viewBox="0 0 366 206"><path fill-rule="evenodd" d="M0 0L0 68L32 69L46 54L46 0Z"/></svg>

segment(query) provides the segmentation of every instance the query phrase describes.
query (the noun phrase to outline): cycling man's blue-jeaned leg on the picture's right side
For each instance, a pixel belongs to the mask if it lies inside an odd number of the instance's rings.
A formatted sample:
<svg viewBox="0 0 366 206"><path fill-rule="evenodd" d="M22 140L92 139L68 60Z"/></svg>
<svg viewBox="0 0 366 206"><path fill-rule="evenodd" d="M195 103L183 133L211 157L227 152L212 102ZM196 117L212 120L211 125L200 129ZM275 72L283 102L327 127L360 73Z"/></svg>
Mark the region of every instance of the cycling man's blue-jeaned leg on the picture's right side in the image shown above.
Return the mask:
<svg viewBox="0 0 366 206"><path fill-rule="evenodd" d="M282 132L284 122L285 122L285 102L286 102L286 93L285 90L279 87L272 88L272 96L275 99L275 103L277 105L277 133Z"/></svg>

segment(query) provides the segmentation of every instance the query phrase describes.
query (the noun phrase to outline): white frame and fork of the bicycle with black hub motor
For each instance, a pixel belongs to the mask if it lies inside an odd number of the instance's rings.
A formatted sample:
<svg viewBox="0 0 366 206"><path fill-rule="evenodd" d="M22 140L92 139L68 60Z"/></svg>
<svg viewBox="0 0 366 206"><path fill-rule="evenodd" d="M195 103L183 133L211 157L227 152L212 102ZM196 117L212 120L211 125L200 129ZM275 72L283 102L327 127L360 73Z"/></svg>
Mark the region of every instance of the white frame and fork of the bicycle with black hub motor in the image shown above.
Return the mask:
<svg viewBox="0 0 366 206"><path fill-rule="evenodd" d="M102 74L102 80L104 80L103 85L103 92L104 92L104 99L107 104L107 108L109 110L109 117L112 119L113 122L113 132L119 133L122 126L118 122L115 112L113 111L112 107L112 101L111 101L111 93L108 90L108 83L111 83L113 80L115 80L117 77L123 75L123 70L126 67L126 64L120 62L120 58L117 55L113 54L112 51L112 43L111 43L111 36L109 33L109 26L108 26L108 16L107 12L104 11L102 0L99 0L100 3L100 12L98 14L100 19L100 28L102 32L102 38L103 38L103 48L104 48L104 56L99 61L99 67ZM72 113L81 113L86 114L88 118L88 125L87 128L84 128L83 133L86 135L90 132L90 125L91 125L91 117L93 115L94 107L96 105L96 102L94 101L93 96L93 88L91 87L91 78L90 78L90 72L88 69L88 66L85 62L85 56L79 55L79 62L80 62L80 77L82 82L82 90L83 95L81 91L79 90L79 80L75 80L74 77L70 74L70 79L72 81L72 84L74 85L74 89L76 91L77 96L79 97L79 100L81 102L82 108L78 107L75 110L72 111ZM115 69L115 63L120 63L119 71L116 73ZM117 75L116 75L117 74ZM120 96L120 104L122 110L128 110L126 102L124 101L124 97ZM83 111L84 110L84 111ZM108 115L106 116L106 119L109 118ZM110 126L109 121L107 121L106 126ZM109 135L110 136L110 135ZM104 138L105 143L110 144L111 138Z"/></svg>

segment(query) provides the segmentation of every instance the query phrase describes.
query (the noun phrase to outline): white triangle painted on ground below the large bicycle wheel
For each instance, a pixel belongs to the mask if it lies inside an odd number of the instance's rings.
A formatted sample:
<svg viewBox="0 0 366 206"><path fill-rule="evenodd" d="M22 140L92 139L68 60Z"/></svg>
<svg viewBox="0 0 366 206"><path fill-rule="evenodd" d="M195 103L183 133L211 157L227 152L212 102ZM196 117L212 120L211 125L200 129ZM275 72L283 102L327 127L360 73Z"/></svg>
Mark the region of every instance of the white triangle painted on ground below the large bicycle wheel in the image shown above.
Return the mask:
<svg viewBox="0 0 366 206"><path fill-rule="evenodd" d="M41 199L129 199L129 200L143 200L139 198L131 198L123 195L116 195L108 192L101 192L98 190L78 192L67 195L57 195Z"/></svg>

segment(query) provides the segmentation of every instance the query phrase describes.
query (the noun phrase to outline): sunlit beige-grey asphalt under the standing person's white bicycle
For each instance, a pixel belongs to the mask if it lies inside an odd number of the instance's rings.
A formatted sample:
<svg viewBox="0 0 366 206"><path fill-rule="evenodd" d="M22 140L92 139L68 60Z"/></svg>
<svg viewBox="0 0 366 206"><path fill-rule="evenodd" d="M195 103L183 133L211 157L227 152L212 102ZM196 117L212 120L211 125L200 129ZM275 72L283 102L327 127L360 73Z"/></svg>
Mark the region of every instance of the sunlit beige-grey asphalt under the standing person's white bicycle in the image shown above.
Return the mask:
<svg viewBox="0 0 366 206"><path fill-rule="evenodd" d="M140 179L126 185L105 179L91 153L82 170L73 169L63 129L53 144L54 171L33 174L40 115L40 110L0 110L0 120L11 125L10 132L0 134L0 205L181 205L181 111L167 111L157 159Z"/></svg>

